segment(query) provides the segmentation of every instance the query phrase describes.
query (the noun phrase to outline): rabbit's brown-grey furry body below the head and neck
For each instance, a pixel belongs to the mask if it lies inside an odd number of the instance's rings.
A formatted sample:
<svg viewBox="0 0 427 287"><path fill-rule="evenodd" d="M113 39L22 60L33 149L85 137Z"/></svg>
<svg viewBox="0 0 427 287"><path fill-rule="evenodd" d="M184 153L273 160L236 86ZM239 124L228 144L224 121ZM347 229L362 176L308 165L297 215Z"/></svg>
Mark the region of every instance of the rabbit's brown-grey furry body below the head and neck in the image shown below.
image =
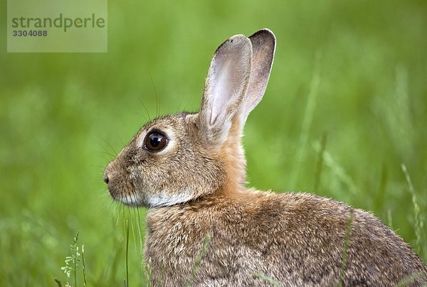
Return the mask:
<svg viewBox="0 0 427 287"><path fill-rule="evenodd" d="M248 191L153 210L145 258L154 285L165 286L185 285L195 268L201 286L265 285L256 274L284 286L391 286L411 276L418 286L427 279L421 259L374 215L306 193Z"/></svg>

